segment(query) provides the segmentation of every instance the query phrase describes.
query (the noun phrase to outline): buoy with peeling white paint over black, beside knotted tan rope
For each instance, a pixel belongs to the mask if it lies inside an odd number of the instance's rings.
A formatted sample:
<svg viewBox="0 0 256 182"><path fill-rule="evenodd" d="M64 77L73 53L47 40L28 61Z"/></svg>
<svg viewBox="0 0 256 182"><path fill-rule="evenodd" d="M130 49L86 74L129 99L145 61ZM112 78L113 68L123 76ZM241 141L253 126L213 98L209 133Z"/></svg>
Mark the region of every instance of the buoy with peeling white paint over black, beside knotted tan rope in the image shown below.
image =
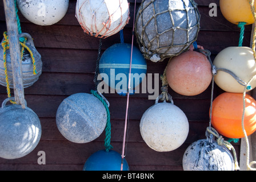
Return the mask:
<svg viewBox="0 0 256 182"><path fill-rule="evenodd" d="M213 137L197 140L187 147L182 166L184 171L234 171L234 159L225 146Z"/></svg>

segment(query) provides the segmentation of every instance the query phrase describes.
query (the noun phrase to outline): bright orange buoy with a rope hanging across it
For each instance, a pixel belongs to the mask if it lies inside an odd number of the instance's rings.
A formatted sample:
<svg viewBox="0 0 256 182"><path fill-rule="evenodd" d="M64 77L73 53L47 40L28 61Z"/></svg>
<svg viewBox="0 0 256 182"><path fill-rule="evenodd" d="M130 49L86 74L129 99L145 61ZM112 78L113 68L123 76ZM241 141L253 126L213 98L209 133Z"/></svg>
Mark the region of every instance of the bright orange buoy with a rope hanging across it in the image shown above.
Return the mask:
<svg viewBox="0 0 256 182"><path fill-rule="evenodd" d="M213 101L211 123L219 134L228 138L243 138L243 94L225 92ZM246 94L244 127L247 136L256 131L256 101Z"/></svg>

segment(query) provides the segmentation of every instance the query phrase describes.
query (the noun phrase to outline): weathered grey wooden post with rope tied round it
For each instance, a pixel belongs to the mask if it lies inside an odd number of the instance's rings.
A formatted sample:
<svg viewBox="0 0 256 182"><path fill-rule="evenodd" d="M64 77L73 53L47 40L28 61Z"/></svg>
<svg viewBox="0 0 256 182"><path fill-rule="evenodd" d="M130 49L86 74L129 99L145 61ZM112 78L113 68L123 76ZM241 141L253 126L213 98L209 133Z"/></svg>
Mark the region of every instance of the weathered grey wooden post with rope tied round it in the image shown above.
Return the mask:
<svg viewBox="0 0 256 182"><path fill-rule="evenodd" d="M3 6L5 7L15 101L17 104L22 105L24 109L25 98L21 67L21 49L19 47L19 34L14 0L3 0Z"/></svg>

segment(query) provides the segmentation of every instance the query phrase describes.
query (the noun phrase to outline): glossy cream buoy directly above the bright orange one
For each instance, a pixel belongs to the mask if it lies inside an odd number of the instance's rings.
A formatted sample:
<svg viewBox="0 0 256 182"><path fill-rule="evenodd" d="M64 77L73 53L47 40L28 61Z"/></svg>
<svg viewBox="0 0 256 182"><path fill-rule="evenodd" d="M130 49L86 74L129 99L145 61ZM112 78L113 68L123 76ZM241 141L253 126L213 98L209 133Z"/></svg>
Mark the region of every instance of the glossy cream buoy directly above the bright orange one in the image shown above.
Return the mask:
<svg viewBox="0 0 256 182"><path fill-rule="evenodd" d="M226 92L243 93L246 83L256 74L253 50L249 47L227 47L218 53L213 64L217 69L226 69L237 77L235 78L225 71L217 71L214 81L219 88ZM239 84L238 78L245 84ZM254 89L255 86L256 78L251 80L250 87L247 88L246 92Z"/></svg>

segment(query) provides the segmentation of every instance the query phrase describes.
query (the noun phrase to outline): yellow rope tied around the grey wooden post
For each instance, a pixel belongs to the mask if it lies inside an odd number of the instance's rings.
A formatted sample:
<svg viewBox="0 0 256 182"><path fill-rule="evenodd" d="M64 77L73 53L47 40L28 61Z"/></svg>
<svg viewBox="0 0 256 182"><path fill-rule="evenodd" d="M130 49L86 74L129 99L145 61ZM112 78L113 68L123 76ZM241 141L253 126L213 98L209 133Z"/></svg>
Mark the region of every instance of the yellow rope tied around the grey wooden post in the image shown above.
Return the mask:
<svg viewBox="0 0 256 182"><path fill-rule="evenodd" d="M6 50L9 49L9 40L8 40L8 35L7 32L3 32L3 37L5 38L5 40L3 40L2 42L2 47L3 47L3 67L5 68L5 81L6 81L6 89L7 89L7 95L8 97L11 97L11 91L10 91L10 84L9 84L9 78L8 78L8 73L7 73L7 63L6 63ZM19 44L21 44L22 48L21 48L21 60L23 59L23 52L24 49L26 48L27 51L29 51L30 56L32 58L33 61L33 74L37 74L37 71L35 69L35 59L34 59L34 55L33 52L30 50L29 47L26 46L26 40L27 38L25 38L25 42L21 43L19 42ZM15 101L10 101L12 104L17 104Z"/></svg>

